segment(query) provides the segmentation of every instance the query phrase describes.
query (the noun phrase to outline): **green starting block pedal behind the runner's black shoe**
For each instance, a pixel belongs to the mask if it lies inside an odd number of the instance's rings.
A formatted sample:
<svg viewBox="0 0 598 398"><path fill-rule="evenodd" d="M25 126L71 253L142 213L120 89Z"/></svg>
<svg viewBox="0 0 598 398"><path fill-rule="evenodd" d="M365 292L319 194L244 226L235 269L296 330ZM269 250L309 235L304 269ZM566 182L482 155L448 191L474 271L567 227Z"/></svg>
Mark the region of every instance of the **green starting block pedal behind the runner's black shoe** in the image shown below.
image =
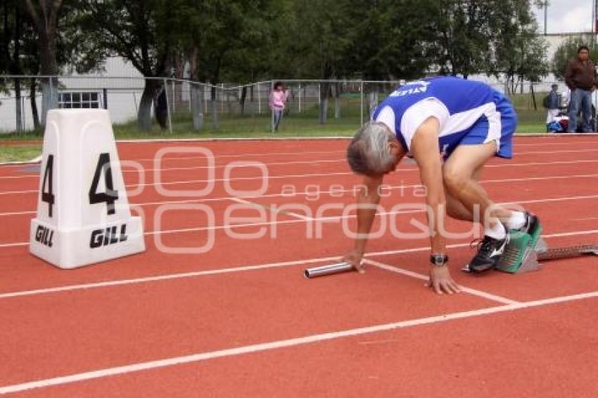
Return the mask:
<svg viewBox="0 0 598 398"><path fill-rule="evenodd" d="M509 245L500 256L496 268L510 274L540 269L537 252L547 250L546 243L540 238L541 232L541 225L537 227L533 235L520 231L509 231Z"/></svg>

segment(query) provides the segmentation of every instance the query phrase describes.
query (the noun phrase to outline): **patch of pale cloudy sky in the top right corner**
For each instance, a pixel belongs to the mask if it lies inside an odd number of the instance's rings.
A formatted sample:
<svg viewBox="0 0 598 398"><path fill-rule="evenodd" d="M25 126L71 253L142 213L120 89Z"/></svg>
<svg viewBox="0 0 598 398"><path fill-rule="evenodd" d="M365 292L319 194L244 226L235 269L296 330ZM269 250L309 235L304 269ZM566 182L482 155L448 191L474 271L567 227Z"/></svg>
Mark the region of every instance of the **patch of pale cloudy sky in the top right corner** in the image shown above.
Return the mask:
<svg viewBox="0 0 598 398"><path fill-rule="evenodd" d="M548 0L548 33L590 32L593 0ZM544 10L533 6L540 32L544 32Z"/></svg>

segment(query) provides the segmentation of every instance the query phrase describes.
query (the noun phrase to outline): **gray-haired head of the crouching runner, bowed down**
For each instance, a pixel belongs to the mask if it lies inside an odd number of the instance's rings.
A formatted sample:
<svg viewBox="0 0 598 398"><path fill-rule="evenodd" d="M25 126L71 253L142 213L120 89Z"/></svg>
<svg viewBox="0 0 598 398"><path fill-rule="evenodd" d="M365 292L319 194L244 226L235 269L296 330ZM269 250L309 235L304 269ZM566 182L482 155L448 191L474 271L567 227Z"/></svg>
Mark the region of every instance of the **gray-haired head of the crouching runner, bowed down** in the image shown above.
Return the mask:
<svg viewBox="0 0 598 398"><path fill-rule="evenodd" d="M388 172L396 156L390 152L388 127L369 122L357 131L347 148L347 161L353 172L379 175Z"/></svg>

